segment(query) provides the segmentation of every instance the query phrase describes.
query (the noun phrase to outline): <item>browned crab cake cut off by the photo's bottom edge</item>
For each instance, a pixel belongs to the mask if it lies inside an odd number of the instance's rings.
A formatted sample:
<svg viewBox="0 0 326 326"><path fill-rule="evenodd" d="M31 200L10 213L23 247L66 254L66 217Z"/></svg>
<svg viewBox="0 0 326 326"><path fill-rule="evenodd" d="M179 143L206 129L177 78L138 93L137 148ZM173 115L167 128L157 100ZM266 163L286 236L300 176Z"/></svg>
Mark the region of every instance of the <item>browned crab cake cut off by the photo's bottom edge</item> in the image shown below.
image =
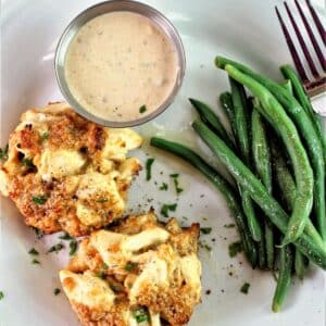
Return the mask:
<svg viewBox="0 0 326 326"><path fill-rule="evenodd" d="M84 239L60 279L82 325L179 326L201 298L199 225L153 212Z"/></svg>

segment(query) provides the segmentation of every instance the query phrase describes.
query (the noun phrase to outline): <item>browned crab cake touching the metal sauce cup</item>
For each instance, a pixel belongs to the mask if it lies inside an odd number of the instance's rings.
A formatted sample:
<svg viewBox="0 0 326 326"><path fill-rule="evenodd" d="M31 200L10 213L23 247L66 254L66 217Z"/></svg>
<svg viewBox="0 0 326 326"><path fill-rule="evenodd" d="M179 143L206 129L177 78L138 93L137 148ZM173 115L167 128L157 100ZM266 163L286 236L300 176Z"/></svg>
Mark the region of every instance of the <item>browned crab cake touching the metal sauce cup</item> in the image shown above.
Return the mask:
<svg viewBox="0 0 326 326"><path fill-rule="evenodd" d="M131 129L99 126L66 103L28 110L10 136L0 190L28 226L87 235L123 215L140 170L126 154L141 141Z"/></svg>

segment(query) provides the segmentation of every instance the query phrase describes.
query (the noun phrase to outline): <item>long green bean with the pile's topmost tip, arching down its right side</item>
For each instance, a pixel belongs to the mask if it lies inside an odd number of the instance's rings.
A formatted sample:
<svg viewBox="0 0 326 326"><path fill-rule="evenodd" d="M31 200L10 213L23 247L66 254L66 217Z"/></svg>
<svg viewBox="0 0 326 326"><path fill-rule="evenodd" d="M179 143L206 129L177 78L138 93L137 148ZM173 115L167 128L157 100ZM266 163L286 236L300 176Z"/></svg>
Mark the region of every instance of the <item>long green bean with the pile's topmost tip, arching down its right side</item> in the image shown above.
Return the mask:
<svg viewBox="0 0 326 326"><path fill-rule="evenodd" d="M283 104L284 109L287 111L289 116L296 123L302 138L306 142L308 152L311 159L312 167L314 170L314 211L316 214L318 230L322 235L322 238L326 241L326 201L325 201L325 152L323 143L323 139L321 139L321 135L316 133L316 126L311 120L311 115L309 115L305 110L301 106L301 104L297 101L297 99L290 95L283 86L278 85L277 83L273 82L272 79L264 77L255 72L251 71L247 66L234 62L231 60L216 57L215 59L216 66L221 68L225 68L227 64L230 64L241 71L242 73L247 74L251 78L255 79L256 82L261 83L264 87L266 87L274 97ZM293 83L292 83L293 84ZM293 84L294 87L294 84ZM281 123L283 125L283 123ZM323 138L323 137L322 137ZM323 143L322 143L323 142ZM296 168L294 168L296 171ZM301 197L302 187L300 183L297 180L298 174L296 173L296 183L298 184L298 196ZM299 213L299 211L298 211ZM297 212L294 212L297 214ZM306 212L304 213L306 216ZM303 218L305 220L305 218ZM303 221L302 220L302 221ZM302 226L299 227L299 230L294 230L294 235L298 236L302 230ZM286 237L285 241L288 242L288 238Z"/></svg>

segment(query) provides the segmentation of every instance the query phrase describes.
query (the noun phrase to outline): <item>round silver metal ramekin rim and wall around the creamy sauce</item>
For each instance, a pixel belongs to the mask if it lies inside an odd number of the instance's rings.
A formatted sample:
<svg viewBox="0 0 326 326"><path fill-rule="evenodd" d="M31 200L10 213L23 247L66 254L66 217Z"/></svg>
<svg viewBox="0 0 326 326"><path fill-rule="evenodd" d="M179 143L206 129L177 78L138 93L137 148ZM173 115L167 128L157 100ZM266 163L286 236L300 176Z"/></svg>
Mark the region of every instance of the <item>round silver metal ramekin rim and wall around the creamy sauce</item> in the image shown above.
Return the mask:
<svg viewBox="0 0 326 326"><path fill-rule="evenodd" d="M84 109L78 101L74 98L74 96L71 93L68 85L65 79L64 74L64 63L65 63L65 55L68 49L68 46L71 41L73 40L74 36L77 34L79 28L85 25L88 21L114 11L129 11L135 12L138 14L141 14L143 16L147 16L150 18L153 23L155 23L170 38L172 43L175 47L175 51L178 58L178 73L176 83L174 85L174 88L168 96L168 98L152 113L145 115L141 118L128 121L128 122L115 122L115 121L106 121L101 117L98 117L90 112L88 112L86 109ZM155 9L140 3L136 1L128 1L128 0L112 0L112 1L105 1L101 2L99 4L96 4L93 7L90 7L83 11L78 16L76 16L65 28L63 35L61 36L57 51L55 51L55 59L54 59L54 68L55 68L55 76L59 84L59 87L61 89L61 92L63 93L66 101L71 104L71 106L80 115L84 117L96 122L100 125L104 125L108 127L130 127L143 124L155 116L158 116L160 113L162 113L174 100L178 89L181 86L184 75L185 75L185 68L186 68L186 58L185 58L185 51L183 47L181 39L175 29L175 27L172 25L172 23L159 11Z"/></svg>

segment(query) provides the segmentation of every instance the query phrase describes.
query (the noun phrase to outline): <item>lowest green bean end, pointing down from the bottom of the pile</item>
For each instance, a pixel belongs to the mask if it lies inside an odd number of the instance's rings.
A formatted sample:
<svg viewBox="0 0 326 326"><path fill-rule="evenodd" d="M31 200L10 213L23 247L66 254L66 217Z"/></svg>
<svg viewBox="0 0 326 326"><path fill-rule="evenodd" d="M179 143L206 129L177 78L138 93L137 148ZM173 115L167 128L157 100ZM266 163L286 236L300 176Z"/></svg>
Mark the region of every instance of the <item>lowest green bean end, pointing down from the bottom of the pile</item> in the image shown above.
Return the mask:
<svg viewBox="0 0 326 326"><path fill-rule="evenodd" d="M292 251L289 244L280 249L279 273L277 286L273 298L272 309L274 312L279 312L284 303L286 294L291 284L291 273L293 265Z"/></svg>

